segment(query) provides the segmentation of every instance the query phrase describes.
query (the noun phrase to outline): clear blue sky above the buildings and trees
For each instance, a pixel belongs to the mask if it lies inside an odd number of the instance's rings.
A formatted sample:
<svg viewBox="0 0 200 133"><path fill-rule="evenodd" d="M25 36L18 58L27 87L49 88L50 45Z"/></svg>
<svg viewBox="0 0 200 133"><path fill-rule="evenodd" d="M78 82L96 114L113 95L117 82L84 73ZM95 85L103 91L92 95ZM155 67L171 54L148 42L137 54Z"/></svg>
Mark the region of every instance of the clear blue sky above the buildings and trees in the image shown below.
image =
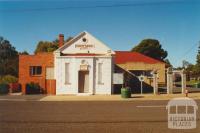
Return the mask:
<svg viewBox="0 0 200 133"><path fill-rule="evenodd" d="M113 50L130 50L145 38L158 39L174 66L182 60L195 63L200 1L0 1L0 36L19 51L32 53L40 40L84 30Z"/></svg>

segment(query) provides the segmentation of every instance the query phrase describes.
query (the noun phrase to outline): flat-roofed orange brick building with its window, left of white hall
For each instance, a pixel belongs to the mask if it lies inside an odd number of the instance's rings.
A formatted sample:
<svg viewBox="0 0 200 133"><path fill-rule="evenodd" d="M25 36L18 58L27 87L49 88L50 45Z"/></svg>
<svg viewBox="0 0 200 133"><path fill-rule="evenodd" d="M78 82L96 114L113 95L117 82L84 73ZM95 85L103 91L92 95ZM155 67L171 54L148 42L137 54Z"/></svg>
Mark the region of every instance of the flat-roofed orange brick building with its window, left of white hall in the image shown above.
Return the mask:
<svg viewBox="0 0 200 133"><path fill-rule="evenodd" d="M48 93L49 82L52 82L52 87L55 86L54 80L47 79L47 72L53 67L53 53L19 55L19 83L22 85L22 92L25 94L27 83L34 82L38 83L44 92ZM55 92L52 91L52 93Z"/></svg>

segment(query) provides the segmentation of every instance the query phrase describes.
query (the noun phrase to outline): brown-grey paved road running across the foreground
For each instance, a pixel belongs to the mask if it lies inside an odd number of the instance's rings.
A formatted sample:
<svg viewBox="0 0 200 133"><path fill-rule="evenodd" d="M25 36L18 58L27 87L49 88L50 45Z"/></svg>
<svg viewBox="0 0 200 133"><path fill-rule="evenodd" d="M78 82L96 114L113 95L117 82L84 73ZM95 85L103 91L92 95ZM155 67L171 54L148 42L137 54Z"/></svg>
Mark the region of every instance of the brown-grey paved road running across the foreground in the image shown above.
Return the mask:
<svg viewBox="0 0 200 133"><path fill-rule="evenodd" d="M200 132L200 111L196 129L168 129L166 104L167 101L0 101L0 133Z"/></svg>

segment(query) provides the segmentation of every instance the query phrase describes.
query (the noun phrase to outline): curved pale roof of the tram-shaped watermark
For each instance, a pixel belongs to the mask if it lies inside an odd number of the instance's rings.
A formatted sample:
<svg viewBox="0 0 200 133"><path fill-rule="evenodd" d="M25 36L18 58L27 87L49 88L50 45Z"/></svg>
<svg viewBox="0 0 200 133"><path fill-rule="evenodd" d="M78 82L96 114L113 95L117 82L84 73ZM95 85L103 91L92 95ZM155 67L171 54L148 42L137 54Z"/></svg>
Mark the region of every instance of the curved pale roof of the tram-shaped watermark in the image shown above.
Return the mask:
<svg viewBox="0 0 200 133"><path fill-rule="evenodd" d="M167 109L170 106L193 106L196 109L198 109L197 103L188 97L181 97L181 98L173 98L172 100L170 100L167 104Z"/></svg>

